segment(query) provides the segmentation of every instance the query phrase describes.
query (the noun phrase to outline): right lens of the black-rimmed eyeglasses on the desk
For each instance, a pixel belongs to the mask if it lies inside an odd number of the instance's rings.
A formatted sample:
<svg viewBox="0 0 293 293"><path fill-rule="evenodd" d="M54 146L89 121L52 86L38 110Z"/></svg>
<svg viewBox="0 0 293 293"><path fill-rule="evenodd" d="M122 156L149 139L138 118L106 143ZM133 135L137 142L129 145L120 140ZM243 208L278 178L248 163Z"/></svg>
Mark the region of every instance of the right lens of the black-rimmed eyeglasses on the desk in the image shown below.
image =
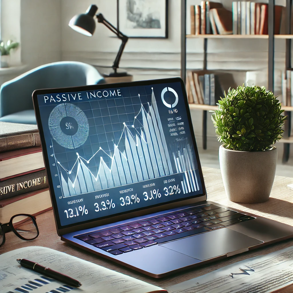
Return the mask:
<svg viewBox="0 0 293 293"><path fill-rule="evenodd" d="M31 217L21 215L12 219L13 228L25 239L33 239L38 235L37 227Z"/></svg>

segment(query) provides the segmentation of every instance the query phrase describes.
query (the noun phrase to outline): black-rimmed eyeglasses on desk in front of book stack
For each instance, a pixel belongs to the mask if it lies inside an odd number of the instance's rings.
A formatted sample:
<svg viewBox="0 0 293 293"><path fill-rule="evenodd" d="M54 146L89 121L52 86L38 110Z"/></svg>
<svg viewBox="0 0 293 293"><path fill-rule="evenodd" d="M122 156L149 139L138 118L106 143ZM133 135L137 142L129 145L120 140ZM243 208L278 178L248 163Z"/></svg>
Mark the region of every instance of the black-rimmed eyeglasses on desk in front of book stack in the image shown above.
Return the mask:
<svg viewBox="0 0 293 293"><path fill-rule="evenodd" d="M22 240L34 240L39 236L35 216L17 214L11 217L9 223L0 223L0 246L5 243L5 233L13 231Z"/></svg>

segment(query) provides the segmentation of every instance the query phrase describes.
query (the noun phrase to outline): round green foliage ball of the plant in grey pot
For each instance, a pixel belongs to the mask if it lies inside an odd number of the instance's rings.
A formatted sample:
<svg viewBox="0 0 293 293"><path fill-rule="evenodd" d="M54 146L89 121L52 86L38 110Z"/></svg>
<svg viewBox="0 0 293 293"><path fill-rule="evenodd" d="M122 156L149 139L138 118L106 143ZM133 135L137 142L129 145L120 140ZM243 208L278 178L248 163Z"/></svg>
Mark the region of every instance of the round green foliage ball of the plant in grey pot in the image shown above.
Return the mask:
<svg viewBox="0 0 293 293"><path fill-rule="evenodd" d="M220 142L236 151L265 151L284 132L285 116L277 97L265 87L238 86L224 93L212 120Z"/></svg>

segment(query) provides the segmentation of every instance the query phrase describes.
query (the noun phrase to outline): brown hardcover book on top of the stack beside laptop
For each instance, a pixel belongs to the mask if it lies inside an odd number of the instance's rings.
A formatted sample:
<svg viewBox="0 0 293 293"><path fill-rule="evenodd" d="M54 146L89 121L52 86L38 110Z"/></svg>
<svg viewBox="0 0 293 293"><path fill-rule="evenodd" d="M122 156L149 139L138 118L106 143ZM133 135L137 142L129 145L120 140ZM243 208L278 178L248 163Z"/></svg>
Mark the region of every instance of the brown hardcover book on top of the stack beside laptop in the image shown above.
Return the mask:
<svg viewBox="0 0 293 293"><path fill-rule="evenodd" d="M0 152L40 145L37 125L0 122Z"/></svg>

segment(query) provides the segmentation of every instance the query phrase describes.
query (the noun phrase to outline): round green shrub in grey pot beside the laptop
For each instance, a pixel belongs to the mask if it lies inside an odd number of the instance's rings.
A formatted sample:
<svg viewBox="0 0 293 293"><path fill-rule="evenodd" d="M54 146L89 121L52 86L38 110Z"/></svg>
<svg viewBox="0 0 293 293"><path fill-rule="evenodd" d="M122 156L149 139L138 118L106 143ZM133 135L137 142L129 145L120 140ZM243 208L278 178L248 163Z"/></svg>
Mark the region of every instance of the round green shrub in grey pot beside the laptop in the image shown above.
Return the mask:
<svg viewBox="0 0 293 293"><path fill-rule="evenodd" d="M282 115L277 97L265 87L238 86L219 100L212 120L223 144L220 167L229 200L241 203L269 199L277 166L277 149L282 138Z"/></svg>

